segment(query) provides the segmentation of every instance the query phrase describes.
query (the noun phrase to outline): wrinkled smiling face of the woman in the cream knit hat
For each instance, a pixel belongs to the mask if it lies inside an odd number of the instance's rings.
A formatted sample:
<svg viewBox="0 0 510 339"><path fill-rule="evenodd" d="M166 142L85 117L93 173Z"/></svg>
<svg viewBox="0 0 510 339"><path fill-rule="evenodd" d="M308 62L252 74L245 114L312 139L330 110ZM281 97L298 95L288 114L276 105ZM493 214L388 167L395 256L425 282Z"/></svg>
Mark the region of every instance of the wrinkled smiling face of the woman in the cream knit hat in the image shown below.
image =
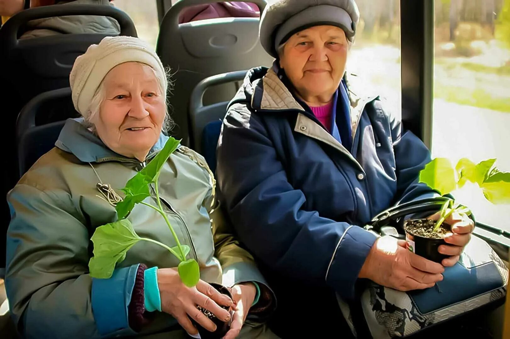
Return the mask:
<svg viewBox="0 0 510 339"><path fill-rule="evenodd" d="M91 121L111 150L144 160L159 139L166 104L150 66L129 62L106 75L105 99Z"/></svg>

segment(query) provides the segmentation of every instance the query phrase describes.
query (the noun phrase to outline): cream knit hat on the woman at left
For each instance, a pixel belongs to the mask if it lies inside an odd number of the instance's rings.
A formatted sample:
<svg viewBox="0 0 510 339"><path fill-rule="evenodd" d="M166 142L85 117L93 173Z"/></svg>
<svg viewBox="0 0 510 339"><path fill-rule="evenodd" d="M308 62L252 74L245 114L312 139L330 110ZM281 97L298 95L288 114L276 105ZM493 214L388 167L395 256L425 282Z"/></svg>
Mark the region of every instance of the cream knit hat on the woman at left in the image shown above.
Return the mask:
<svg viewBox="0 0 510 339"><path fill-rule="evenodd" d="M124 36L106 37L78 56L69 75L72 102L82 116L87 114L91 100L108 72L126 62L140 62L154 69L158 78L164 81L163 95L166 95L168 82L165 69L156 52L145 41Z"/></svg>

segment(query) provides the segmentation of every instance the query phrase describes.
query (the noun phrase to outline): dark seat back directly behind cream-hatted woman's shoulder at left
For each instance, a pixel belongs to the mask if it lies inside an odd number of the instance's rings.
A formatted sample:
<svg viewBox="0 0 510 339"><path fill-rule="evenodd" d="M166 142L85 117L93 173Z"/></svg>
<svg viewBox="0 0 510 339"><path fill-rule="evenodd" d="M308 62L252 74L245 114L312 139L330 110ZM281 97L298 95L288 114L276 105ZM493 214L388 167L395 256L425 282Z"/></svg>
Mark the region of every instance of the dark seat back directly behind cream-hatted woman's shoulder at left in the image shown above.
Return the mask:
<svg viewBox="0 0 510 339"><path fill-rule="evenodd" d="M62 103L66 105L62 105ZM63 88L48 91L37 95L29 101L20 111L16 122L16 143L18 145L18 170L21 177L29 168L46 152L55 146L60 131L64 127L65 119L79 117L80 114L74 110L65 109L58 112L57 121L38 124L41 115L46 115L46 107L57 103L57 107L72 107L71 89ZM67 117L65 116L67 115Z"/></svg>

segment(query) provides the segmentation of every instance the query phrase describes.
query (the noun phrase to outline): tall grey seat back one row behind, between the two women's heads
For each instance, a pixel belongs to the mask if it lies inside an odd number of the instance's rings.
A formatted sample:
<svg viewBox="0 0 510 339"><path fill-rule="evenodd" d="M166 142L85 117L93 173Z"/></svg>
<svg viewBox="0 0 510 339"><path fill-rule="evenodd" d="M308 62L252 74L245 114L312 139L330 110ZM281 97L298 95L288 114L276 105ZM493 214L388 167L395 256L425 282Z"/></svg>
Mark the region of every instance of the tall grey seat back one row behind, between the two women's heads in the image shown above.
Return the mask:
<svg viewBox="0 0 510 339"><path fill-rule="evenodd" d="M175 86L169 96L176 127L172 135L190 143L187 114L189 98L200 80L215 74L271 66L273 58L259 42L258 17L214 18L179 24L188 6L216 3L216 0L181 0L170 7L160 26L156 51L163 65L170 66ZM262 10L265 0L254 0ZM208 91L206 104L231 100L237 88L223 84Z"/></svg>

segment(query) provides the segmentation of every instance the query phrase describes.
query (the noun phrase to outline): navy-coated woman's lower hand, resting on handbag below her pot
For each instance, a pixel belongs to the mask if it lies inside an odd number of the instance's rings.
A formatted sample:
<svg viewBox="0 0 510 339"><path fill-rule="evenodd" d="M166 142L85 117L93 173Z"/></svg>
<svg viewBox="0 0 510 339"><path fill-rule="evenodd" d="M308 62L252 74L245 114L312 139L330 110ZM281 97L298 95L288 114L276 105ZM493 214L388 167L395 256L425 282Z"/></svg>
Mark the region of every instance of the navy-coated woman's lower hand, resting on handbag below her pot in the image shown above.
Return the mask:
<svg viewBox="0 0 510 339"><path fill-rule="evenodd" d="M404 240L391 236L377 239L359 277L399 291L422 290L443 280L444 267L416 255Z"/></svg>

